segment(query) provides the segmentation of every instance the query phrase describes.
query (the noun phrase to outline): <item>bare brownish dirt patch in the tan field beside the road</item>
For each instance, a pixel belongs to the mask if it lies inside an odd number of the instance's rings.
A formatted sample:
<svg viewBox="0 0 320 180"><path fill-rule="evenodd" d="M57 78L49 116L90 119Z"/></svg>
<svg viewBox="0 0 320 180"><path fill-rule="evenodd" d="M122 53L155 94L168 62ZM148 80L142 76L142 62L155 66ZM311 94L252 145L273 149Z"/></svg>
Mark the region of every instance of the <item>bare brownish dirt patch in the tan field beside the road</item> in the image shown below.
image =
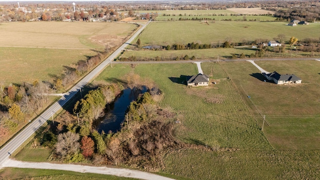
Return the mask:
<svg viewBox="0 0 320 180"><path fill-rule="evenodd" d="M104 46L114 47L119 45L124 38L117 35L94 35L89 38L94 43L102 44Z"/></svg>

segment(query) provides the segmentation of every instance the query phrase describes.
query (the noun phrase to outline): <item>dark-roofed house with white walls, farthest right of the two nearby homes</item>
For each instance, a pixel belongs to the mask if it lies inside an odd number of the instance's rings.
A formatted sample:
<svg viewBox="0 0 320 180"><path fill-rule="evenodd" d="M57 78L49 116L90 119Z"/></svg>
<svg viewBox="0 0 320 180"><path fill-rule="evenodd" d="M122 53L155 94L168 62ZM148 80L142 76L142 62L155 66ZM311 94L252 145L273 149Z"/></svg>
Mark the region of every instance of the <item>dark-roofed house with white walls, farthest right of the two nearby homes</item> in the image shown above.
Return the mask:
<svg viewBox="0 0 320 180"><path fill-rule="evenodd" d="M276 84L289 84L289 83L301 83L302 80L294 74L279 74L276 71L266 74L262 72L262 75Z"/></svg>

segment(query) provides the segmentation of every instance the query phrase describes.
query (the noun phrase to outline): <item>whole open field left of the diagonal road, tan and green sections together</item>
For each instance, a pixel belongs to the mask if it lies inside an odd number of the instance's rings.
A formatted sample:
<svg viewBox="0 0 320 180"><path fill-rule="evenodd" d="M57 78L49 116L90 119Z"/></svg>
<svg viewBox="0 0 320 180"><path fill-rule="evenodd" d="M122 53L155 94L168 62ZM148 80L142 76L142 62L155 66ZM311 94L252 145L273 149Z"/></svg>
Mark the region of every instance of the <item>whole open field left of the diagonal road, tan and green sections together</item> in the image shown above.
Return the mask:
<svg viewBox="0 0 320 180"><path fill-rule="evenodd" d="M118 45L136 26L129 23L8 22L0 24L0 83L49 81L64 66Z"/></svg>

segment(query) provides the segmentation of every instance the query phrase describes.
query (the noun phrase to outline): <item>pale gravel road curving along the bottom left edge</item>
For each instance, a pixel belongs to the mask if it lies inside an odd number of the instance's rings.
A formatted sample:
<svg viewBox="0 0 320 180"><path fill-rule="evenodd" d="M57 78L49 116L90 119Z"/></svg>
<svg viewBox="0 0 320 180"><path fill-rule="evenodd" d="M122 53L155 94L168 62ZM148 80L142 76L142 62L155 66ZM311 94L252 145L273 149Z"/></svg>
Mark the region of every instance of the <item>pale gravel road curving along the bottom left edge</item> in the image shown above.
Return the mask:
<svg viewBox="0 0 320 180"><path fill-rule="evenodd" d="M139 178L139 179L173 180L171 178L163 177L157 174L139 171L139 170L125 169L125 168L89 166L89 165L78 165L78 164L56 164L56 163L48 163L48 162L23 162L23 161L17 161L9 158L2 163L2 167L58 169L58 170L70 170L70 171L76 171L76 172L82 172L82 173L87 172L87 173L109 174L109 175L132 177L132 178Z"/></svg>

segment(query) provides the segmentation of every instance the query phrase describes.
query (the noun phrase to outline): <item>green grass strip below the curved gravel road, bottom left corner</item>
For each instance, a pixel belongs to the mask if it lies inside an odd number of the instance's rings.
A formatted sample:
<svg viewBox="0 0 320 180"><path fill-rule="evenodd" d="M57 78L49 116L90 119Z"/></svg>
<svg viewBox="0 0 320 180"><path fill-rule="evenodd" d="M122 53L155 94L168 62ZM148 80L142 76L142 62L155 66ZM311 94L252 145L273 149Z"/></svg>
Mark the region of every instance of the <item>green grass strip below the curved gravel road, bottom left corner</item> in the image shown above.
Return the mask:
<svg viewBox="0 0 320 180"><path fill-rule="evenodd" d="M31 169L31 168L15 168L5 167L0 169L0 177L3 179L136 179L128 177L117 177L113 175L97 174L97 173L79 173L66 170L52 169ZM1 179L2 179L1 178Z"/></svg>

